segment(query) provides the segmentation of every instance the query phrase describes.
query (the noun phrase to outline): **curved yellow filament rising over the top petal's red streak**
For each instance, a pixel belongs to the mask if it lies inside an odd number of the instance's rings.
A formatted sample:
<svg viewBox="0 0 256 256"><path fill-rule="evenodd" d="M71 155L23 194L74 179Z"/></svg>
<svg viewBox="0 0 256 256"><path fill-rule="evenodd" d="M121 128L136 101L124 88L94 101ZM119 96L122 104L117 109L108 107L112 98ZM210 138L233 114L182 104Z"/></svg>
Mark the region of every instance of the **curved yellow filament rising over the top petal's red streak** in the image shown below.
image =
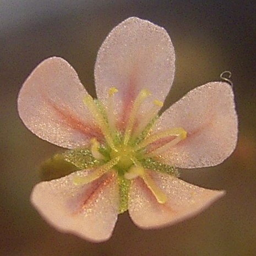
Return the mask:
<svg viewBox="0 0 256 256"><path fill-rule="evenodd" d="M146 99L146 97L150 96L150 92L146 89L143 89L140 91L139 95L134 101L132 111L130 112L130 117L127 122L126 131L124 133L124 141L123 144L127 145L128 141L130 139L130 134L132 134L133 125L135 122L135 117L137 115L137 112L139 110L139 107L141 103Z"/></svg>

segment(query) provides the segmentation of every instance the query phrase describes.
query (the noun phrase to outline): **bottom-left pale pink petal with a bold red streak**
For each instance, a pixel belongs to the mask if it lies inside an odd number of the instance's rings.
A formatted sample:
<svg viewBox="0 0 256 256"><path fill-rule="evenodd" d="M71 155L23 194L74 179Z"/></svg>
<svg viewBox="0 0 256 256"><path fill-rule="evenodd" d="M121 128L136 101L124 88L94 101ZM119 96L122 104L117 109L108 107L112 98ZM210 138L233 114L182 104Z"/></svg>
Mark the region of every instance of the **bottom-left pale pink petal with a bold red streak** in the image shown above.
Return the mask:
<svg viewBox="0 0 256 256"><path fill-rule="evenodd" d="M52 226L92 242L110 238L118 214L116 175L108 173L97 181L75 186L75 175L85 171L37 184L31 202Z"/></svg>

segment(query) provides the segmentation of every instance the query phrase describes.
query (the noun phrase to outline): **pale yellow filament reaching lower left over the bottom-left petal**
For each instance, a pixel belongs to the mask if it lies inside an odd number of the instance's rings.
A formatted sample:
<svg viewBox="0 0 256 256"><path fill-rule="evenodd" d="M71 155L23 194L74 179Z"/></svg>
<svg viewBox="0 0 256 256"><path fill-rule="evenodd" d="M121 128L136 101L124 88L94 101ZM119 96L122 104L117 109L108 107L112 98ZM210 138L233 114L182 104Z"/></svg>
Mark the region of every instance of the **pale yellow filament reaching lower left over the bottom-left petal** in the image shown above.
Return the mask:
<svg viewBox="0 0 256 256"><path fill-rule="evenodd" d="M85 176L85 177L75 176L73 178L73 183L75 185L84 185L84 184L88 184L92 181L95 181L95 179L100 178L106 172L110 171L111 168L119 162L119 160L120 160L120 157L116 157L115 159L110 160L105 165L102 165L102 166L96 168L96 170L89 173L88 176Z"/></svg>

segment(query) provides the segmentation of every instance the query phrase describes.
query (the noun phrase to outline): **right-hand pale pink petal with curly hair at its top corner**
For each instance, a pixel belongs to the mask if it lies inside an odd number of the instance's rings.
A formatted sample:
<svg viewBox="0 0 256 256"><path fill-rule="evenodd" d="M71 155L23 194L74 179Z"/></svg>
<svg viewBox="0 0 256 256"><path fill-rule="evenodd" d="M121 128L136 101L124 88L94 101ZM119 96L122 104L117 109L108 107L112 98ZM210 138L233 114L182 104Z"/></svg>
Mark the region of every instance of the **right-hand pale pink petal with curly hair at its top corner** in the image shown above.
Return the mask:
<svg viewBox="0 0 256 256"><path fill-rule="evenodd" d="M188 92L160 117L155 130L182 127L187 138L162 154L181 168L220 164L236 147L238 123L232 88L211 82Z"/></svg>

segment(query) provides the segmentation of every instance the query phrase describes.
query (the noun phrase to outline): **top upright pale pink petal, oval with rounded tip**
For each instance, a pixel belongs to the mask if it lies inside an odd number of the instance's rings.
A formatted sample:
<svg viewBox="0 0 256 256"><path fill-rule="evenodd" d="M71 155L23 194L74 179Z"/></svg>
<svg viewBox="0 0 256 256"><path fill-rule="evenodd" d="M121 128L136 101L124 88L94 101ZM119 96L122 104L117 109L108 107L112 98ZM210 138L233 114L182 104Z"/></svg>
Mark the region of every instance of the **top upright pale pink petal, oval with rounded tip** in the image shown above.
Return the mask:
<svg viewBox="0 0 256 256"><path fill-rule="evenodd" d="M174 72L175 52L166 30L147 20L129 18L116 26L100 47L95 65L97 96L106 102L108 89L115 86L116 111L125 118L141 89L163 101ZM146 104L143 109L148 107Z"/></svg>

